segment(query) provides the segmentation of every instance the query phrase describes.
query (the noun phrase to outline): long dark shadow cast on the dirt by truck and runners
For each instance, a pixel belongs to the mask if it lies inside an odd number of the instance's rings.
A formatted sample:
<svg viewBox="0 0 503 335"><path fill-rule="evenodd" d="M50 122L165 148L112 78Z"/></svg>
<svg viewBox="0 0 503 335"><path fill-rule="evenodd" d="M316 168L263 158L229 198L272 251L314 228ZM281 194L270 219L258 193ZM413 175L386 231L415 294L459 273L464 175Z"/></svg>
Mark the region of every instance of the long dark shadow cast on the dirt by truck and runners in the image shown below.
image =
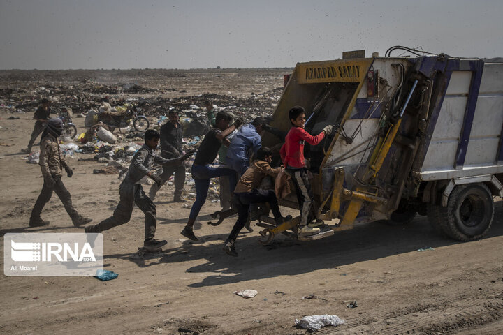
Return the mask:
<svg viewBox="0 0 503 335"><path fill-rule="evenodd" d="M486 239L503 236L502 214L502 208L497 207L495 221ZM272 245L268 247L258 243L261 237L258 236L257 230L240 234L236 242L238 258L228 256L222 250L226 234L200 237L199 242L167 249L161 256L156 255L150 260L131 260L130 253L107 255L105 258L129 259L138 267L205 260L203 264L187 269L187 272L191 273L214 273L205 276L200 282L189 284L189 287L197 288L277 276L295 276L318 269L335 269L342 265L409 253L419 248L439 248L462 243L437 235L424 216L403 226L368 223L353 230L336 232L332 237L318 241L293 241L280 235L275 237Z"/></svg>

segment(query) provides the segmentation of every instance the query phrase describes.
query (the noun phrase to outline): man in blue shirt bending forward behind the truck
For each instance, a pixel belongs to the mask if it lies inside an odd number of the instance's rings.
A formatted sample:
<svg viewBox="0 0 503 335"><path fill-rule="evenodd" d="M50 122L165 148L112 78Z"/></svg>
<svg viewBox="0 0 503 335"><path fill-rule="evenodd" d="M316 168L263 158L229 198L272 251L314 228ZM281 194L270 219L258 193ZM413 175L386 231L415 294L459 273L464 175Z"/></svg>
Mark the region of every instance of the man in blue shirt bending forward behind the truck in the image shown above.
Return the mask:
<svg viewBox="0 0 503 335"><path fill-rule="evenodd" d="M249 168L249 151L256 154L257 150L262 147L262 138L259 135L265 127L265 119L256 117L251 124L245 124L236 133L231 140L231 144L227 150L227 164L238 172L241 177L247 168Z"/></svg>

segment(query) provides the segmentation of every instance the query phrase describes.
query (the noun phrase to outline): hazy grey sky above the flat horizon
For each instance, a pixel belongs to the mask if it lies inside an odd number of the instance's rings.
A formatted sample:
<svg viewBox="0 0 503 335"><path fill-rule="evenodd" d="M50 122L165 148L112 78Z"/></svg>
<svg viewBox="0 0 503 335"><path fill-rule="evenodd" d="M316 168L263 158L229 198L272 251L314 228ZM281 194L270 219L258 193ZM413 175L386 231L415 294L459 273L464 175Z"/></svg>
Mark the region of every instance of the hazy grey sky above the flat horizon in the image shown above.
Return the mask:
<svg viewBox="0 0 503 335"><path fill-rule="evenodd" d="M502 0L0 0L0 69L293 67L393 45L503 57L502 16Z"/></svg>

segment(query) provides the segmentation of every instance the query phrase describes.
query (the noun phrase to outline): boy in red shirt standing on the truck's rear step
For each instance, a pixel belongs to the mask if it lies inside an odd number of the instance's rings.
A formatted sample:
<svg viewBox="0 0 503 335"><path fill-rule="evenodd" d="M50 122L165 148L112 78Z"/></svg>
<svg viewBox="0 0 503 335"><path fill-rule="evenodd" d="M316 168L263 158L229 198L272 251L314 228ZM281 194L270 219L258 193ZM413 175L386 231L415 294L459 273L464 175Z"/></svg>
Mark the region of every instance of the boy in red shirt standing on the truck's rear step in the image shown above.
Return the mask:
<svg viewBox="0 0 503 335"><path fill-rule="evenodd" d="M313 195L311 183L307 178L307 168L304 159L305 142L316 145L329 135L333 126L326 126L323 131L316 136L310 135L304 130L305 110L303 107L295 106L289 111L289 119L292 124L289 133L286 135L285 143L279 154L288 173L295 184L297 200L300 208L300 224L298 227L299 236L309 236L319 233L319 228L312 228L307 225L309 214L314 214ZM315 214L314 214L315 216ZM313 218L313 217L312 217Z"/></svg>

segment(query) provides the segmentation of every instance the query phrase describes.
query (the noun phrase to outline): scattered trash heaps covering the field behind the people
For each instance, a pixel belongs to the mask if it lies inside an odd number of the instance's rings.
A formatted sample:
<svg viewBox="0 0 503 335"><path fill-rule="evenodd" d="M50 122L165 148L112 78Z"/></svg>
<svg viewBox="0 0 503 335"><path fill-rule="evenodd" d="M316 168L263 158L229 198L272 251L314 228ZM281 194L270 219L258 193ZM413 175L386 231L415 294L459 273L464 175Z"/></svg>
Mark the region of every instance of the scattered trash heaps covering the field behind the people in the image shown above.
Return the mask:
<svg viewBox="0 0 503 335"><path fill-rule="evenodd" d="M168 112L177 110L184 129L183 149L197 149L210 129L205 101L212 103L214 113L228 110L240 119L251 121L255 117L272 114L283 90L283 87L277 87L262 93L251 93L249 96L233 96L228 92L228 95L201 94L166 98L166 93L177 89L162 85L159 85L160 89L152 89L136 82L105 84L90 79L92 75L99 77L99 71L87 73L87 77L83 73L73 75L76 80L72 80L69 85L59 84L57 74L50 71L35 71L30 74L21 71L13 74L12 80L7 74L3 79L10 80L13 84L9 88L0 89L0 111L32 113L41 98L49 98L53 113L64 106L73 112L74 117L85 117L86 128L78 128L73 139L76 143L65 141L61 145L62 154L70 158L74 158L75 153L94 155L94 160L104 164L103 168L94 170L94 173L119 174L119 179L124 178L131 158L143 144L144 133L136 131L130 119L126 120L124 127L108 126L99 121L101 113L123 113L135 107L138 114L150 121L150 128L159 130L168 122ZM185 90L179 91L184 93ZM38 151L35 151L27 161L38 163L38 155ZM189 193L188 198L195 197L194 179L190 174L193 162L194 157L185 161L186 184L189 186L185 191ZM161 168L158 170L160 173ZM219 179L212 179L208 200L218 201L219 187Z"/></svg>

